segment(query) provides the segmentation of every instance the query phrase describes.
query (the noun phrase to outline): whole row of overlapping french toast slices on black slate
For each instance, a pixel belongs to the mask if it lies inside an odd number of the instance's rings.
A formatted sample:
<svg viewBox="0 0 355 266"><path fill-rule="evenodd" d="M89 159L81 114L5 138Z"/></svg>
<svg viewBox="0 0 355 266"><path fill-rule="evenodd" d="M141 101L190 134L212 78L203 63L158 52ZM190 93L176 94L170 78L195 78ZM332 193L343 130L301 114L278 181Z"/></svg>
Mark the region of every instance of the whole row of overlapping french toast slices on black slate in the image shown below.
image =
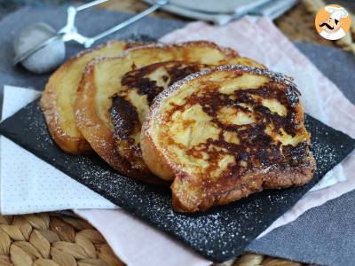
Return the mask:
<svg viewBox="0 0 355 266"><path fill-rule="evenodd" d="M302 185L315 168L296 85L216 43L103 44L60 66L41 106L65 152L171 185L181 212Z"/></svg>

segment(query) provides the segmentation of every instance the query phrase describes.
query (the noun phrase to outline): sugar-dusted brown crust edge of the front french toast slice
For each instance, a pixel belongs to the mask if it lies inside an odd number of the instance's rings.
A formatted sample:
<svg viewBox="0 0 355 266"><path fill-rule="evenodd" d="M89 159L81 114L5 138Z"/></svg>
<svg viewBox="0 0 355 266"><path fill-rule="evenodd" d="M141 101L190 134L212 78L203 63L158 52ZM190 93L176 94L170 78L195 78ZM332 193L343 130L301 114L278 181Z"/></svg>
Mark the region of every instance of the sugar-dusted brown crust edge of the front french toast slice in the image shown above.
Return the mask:
<svg viewBox="0 0 355 266"><path fill-rule="evenodd" d="M202 72L211 73L218 71L218 69L223 67L233 68L235 66L216 66L212 69ZM248 68L248 66L245 67ZM251 68L258 71L256 67ZM267 71L265 69L260 70ZM212 196L209 195L205 199L198 200L198 202L189 201L188 197L185 196L179 196L177 194L177 187L182 184L184 180L188 180L189 175L184 171L181 171L178 165L170 163L164 155L163 151L156 147L150 134L150 122L153 119L159 120L159 117L157 118L156 115L159 116L158 109L160 108L164 98L168 98L170 93L173 93L185 82L189 82L196 76L198 76L198 74L191 74L185 77L185 79L176 82L170 86L170 88L164 90L158 98L155 98L154 104L151 106L151 109L147 114L146 120L143 122L142 126L141 147L143 158L146 161L148 168L150 168L151 171L156 175L159 174L159 176L163 179L173 180L173 183L171 184L171 191L172 205L175 211L185 213L205 211L209 207L225 205L235 200L241 200L242 198L248 197L248 195L254 192L261 192L264 189L284 189L292 186L301 186L312 180L314 171L316 169L316 161L314 160L312 153L308 151L304 163L297 166L296 168L286 168L282 171L273 169L270 171L259 170L253 172L250 176L248 176L248 183L241 182L240 184L234 184L230 190L217 193ZM302 113L302 115L297 118L298 121L304 122L302 105L298 106L298 111Z"/></svg>

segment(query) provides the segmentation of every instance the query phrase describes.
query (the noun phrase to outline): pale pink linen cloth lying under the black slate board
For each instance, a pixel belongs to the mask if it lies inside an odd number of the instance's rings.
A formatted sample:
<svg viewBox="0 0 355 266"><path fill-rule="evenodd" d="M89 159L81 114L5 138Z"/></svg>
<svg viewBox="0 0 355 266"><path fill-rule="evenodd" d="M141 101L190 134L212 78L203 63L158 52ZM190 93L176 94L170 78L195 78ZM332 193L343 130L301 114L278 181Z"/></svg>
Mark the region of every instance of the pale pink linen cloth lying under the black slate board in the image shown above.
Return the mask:
<svg viewBox="0 0 355 266"><path fill-rule="evenodd" d="M355 106L316 66L280 33L271 20L255 23L244 17L224 27L194 22L162 37L162 43L209 40L239 51L241 56L256 59L273 71L295 78L303 95L306 113L355 137ZM351 115L352 114L352 115ZM341 117L341 119L339 119ZM308 192L268 231L294 221L304 211L317 207L355 189L355 152L329 171L317 191ZM333 182L328 186L329 180ZM211 262L194 254L183 244L171 239L141 221L118 210L75 210L101 231L114 252L129 265L209 265Z"/></svg>

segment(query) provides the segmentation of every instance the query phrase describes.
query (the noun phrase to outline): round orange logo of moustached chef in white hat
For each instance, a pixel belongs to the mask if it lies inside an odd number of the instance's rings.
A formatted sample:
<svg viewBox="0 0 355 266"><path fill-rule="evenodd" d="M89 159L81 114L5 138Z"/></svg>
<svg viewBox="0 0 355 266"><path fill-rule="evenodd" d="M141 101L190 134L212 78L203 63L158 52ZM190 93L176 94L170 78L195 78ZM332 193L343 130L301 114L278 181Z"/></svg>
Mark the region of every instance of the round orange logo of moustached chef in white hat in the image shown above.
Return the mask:
<svg viewBox="0 0 355 266"><path fill-rule="evenodd" d="M339 40L348 33L351 18L343 6L329 4L319 10L314 25L323 38Z"/></svg>

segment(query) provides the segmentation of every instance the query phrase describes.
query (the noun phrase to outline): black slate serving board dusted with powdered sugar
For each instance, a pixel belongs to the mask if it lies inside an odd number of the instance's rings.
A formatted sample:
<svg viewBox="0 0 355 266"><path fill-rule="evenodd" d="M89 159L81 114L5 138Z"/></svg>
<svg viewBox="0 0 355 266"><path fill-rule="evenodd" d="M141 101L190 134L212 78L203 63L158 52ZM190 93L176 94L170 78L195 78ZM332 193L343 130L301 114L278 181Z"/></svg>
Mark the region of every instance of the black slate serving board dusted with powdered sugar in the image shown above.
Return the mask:
<svg viewBox="0 0 355 266"><path fill-rule="evenodd" d="M241 254L280 215L310 190L319 178L355 148L355 140L306 115L318 168L312 182L299 188L256 193L201 214L181 215L171 207L169 189L120 176L98 156L63 153L46 130L38 100L0 124L0 133L90 187L132 215L191 246L214 262Z"/></svg>

